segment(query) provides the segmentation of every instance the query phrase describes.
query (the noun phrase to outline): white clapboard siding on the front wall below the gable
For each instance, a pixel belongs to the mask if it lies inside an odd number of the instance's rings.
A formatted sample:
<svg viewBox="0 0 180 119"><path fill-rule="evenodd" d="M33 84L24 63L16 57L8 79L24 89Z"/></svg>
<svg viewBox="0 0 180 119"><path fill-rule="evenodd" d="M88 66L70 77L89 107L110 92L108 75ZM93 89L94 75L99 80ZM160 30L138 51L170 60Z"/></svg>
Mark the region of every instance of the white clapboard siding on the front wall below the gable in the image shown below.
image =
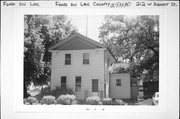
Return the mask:
<svg viewBox="0 0 180 119"><path fill-rule="evenodd" d="M69 53L71 65L65 65L65 54ZM89 64L83 64L83 53L89 53ZM104 90L104 49L53 51L51 72L51 90L60 86L61 76L67 77L67 87L74 92L75 77L81 76L78 98L84 98L84 90L92 92L92 79L99 79L99 91Z"/></svg>

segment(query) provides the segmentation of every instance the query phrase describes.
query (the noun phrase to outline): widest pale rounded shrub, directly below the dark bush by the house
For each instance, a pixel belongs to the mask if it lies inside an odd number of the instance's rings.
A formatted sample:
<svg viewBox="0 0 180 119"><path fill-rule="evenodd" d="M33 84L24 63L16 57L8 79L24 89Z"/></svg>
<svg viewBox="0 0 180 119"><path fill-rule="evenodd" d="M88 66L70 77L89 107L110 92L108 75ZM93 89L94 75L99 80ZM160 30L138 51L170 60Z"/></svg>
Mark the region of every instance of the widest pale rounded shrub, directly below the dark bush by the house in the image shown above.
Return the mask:
<svg viewBox="0 0 180 119"><path fill-rule="evenodd" d="M76 99L75 95L61 95L57 98L57 103L58 104L63 104L63 105L71 105Z"/></svg>

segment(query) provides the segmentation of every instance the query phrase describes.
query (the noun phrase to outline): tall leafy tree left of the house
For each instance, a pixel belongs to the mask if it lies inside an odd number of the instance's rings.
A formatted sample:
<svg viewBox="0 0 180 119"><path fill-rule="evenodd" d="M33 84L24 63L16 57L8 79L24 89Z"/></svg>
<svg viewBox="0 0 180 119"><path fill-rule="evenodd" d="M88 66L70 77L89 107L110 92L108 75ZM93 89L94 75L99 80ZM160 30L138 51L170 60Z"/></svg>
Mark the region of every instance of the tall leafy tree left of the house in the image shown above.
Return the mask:
<svg viewBox="0 0 180 119"><path fill-rule="evenodd" d="M51 54L48 48L74 33L76 29L64 15L24 16L24 98L27 87L47 84L50 79Z"/></svg>

